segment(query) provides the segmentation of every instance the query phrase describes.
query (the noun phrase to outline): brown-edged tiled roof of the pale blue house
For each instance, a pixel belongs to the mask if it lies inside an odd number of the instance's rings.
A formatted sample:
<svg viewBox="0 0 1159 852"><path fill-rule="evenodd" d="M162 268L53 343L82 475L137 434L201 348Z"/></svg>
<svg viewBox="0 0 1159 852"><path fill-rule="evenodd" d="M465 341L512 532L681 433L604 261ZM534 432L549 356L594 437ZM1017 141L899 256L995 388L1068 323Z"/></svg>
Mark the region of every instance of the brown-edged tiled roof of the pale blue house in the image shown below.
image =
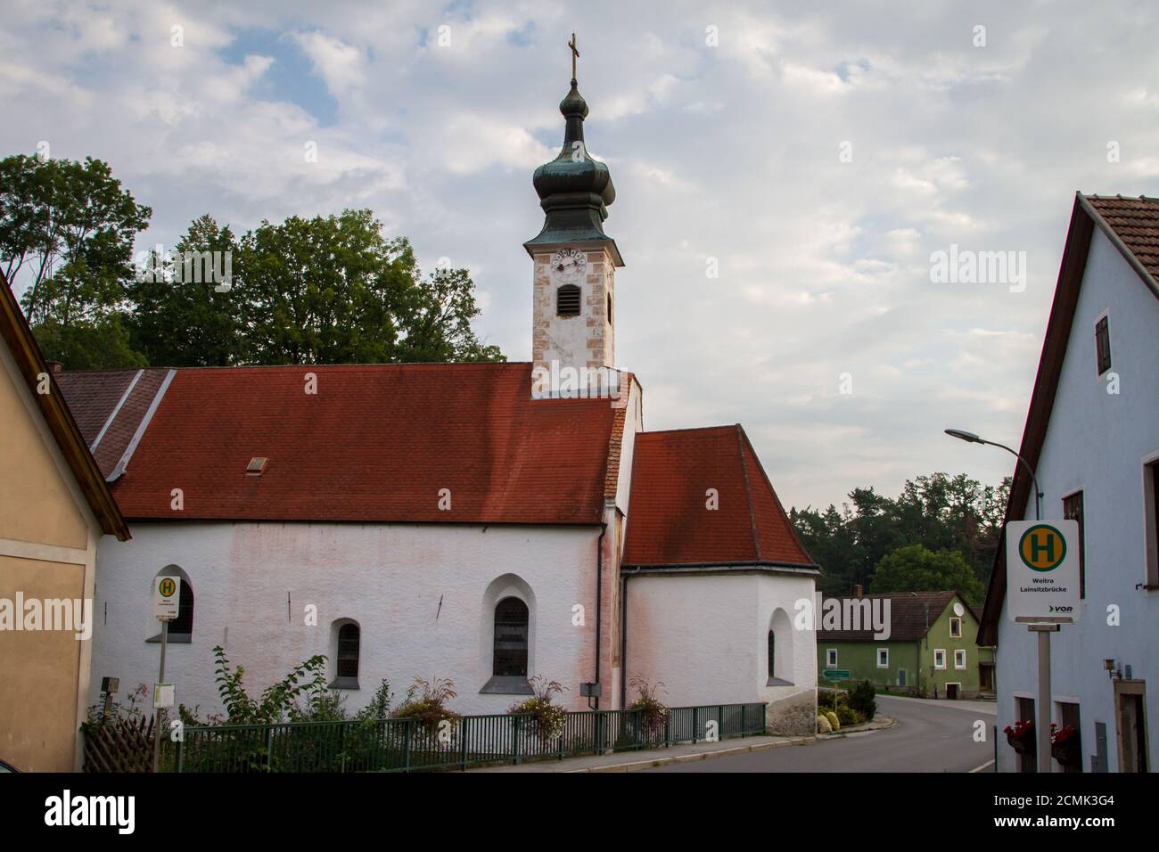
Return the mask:
<svg viewBox="0 0 1159 852"><path fill-rule="evenodd" d="M1066 345L1071 337L1071 325L1078 307L1079 290L1086 272L1091 236L1098 227L1118 249L1139 281L1156 298L1159 298L1159 198L1124 198L1123 196L1096 196L1077 192L1071 211L1071 224L1066 232L1066 247L1058 270L1055 300L1050 307L1047 336L1038 359L1038 373L1034 380L1030 409L1022 429L1022 445L1019 453L1032 468L1038 466L1038 456L1047 438L1050 413L1055 405L1058 379L1066 358ZM1019 520L1033 496L1030 478L1022 465L1015 465L1006 503L1005 525ZM986 589L986 604L978 628L978 645L998 643L998 618L1006 597L1006 538L998 540L998 553Z"/></svg>

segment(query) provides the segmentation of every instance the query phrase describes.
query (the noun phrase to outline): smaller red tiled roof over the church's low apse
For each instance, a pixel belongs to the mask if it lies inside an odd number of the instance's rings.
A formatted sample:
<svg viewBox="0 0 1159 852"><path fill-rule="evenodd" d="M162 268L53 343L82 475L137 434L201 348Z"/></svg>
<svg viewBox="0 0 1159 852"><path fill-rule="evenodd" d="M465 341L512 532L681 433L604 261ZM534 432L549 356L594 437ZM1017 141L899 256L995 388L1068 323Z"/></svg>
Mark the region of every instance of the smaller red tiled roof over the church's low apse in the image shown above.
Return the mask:
<svg viewBox="0 0 1159 852"><path fill-rule="evenodd" d="M636 435L622 565L817 571L739 425Z"/></svg>

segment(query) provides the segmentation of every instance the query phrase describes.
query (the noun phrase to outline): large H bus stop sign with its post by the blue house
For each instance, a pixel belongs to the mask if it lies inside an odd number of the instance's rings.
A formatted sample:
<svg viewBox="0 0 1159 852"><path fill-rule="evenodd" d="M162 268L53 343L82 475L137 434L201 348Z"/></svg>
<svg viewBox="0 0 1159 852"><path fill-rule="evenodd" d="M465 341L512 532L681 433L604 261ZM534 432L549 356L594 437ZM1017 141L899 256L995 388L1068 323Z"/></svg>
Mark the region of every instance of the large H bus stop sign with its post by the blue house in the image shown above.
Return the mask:
<svg viewBox="0 0 1159 852"><path fill-rule="evenodd" d="M1050 772L1050 634L1079 619L1077 520L1012 520L1006 525L1006 611L1038 634L1038 772Z"/></svg>

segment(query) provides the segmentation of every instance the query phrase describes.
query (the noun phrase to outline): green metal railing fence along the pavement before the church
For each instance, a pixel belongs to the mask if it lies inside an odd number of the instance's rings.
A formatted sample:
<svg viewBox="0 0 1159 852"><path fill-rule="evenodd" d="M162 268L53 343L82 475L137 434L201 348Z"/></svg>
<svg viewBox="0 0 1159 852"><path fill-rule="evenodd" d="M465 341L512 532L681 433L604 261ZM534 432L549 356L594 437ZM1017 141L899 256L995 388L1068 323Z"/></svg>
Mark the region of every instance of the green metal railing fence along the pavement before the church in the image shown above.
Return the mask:
<svg viewBox="0 0 1159 852"><path fill-rule="evenodd" d="M567 713L559 736L542 736L526 714L461 716L442 729L418 719L223 724L185 728L165 742L175 772L411 772L563 759L752 736L764 704L671 707L647 723L640 711Z"/></svg>

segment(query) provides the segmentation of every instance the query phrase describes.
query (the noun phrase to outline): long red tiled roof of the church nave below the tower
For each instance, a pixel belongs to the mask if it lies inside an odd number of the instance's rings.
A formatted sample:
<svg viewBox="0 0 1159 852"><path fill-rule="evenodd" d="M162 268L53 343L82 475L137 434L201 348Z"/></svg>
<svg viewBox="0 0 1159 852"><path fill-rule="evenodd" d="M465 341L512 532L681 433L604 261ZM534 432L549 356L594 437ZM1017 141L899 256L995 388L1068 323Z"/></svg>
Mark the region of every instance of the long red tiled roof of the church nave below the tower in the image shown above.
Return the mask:
<svg viewBox="0 0 1159 852"><path fill-rule="evenodd" d="M533 400L530 364L163 372L152 414L126 402L118 415L131 421L122 435L139 432L112 487L130 518L595 525L614 488L619 409L607 399ZM316 394L306 393L308 373ZM93 394L102 410L119 387L99 373L66 383L71 399L104 387ZM255 457L269 460L247 475ZM175 488L181 511L170 508Z"/></svg>

